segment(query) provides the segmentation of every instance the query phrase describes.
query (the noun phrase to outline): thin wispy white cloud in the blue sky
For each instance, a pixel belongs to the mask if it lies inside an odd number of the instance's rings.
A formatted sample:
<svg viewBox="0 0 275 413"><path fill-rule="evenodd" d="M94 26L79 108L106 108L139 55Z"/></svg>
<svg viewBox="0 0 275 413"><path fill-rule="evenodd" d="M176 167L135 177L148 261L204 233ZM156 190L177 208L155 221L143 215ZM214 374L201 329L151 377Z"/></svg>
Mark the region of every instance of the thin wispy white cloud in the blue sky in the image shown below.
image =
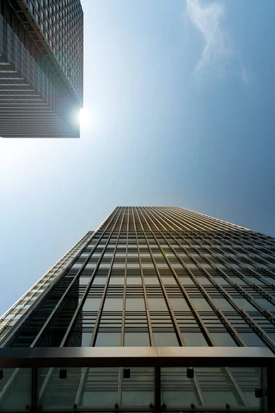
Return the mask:
<svg viewBox="0 0 275 413"><path fill-rule="evenodd" d="M186 0L186 15L195 28L201 32L205 41L195 73L211 69L214 70L216 76L223 77L228 64L234 59L239 66L239 76L244 83L248 83L250 80L248 71L236 56L236 50L223 25L224 3L216 1L206 5L199 0Z"/></svg>

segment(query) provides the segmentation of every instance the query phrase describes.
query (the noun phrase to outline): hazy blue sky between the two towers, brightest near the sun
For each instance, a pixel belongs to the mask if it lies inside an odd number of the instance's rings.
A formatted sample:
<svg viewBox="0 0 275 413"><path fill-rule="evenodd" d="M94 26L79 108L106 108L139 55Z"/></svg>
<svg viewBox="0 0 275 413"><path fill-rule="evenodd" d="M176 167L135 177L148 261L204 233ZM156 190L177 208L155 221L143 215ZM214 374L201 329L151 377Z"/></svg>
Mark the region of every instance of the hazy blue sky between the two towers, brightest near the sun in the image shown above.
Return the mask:
<svg viewBox="0 0 275 413"><path fill-rule="evenodd" d="M80 140L0 139L0 313L118 205L275 236L274 0L82 0Z"/></svg>

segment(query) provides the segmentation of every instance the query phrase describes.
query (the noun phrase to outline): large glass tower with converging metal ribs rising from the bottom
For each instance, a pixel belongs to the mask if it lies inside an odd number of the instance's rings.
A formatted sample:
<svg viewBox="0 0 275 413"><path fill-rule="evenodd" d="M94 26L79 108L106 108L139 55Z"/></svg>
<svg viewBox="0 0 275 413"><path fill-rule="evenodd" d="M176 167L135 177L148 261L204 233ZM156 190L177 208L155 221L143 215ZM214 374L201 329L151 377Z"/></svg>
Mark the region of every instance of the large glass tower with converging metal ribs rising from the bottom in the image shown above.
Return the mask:
<svg viewBox="0 0 275 413"><path fill-rule="evenodd" d="M274 238L180 207L86 237L8 313L0 412L275 412Z"/></svg>

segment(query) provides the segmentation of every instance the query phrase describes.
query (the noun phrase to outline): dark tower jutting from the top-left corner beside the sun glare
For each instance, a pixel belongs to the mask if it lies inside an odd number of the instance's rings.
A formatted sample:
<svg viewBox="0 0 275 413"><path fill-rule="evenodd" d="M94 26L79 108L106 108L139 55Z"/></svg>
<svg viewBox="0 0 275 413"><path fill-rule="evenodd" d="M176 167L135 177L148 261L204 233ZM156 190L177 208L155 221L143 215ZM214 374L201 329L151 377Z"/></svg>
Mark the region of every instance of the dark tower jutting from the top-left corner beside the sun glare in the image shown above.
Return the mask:
<svg viewBox="0 0 275 413"><path fill-rule="evenodd" d="M0 136L79 138L80 0L0 0Z"/></svg>

